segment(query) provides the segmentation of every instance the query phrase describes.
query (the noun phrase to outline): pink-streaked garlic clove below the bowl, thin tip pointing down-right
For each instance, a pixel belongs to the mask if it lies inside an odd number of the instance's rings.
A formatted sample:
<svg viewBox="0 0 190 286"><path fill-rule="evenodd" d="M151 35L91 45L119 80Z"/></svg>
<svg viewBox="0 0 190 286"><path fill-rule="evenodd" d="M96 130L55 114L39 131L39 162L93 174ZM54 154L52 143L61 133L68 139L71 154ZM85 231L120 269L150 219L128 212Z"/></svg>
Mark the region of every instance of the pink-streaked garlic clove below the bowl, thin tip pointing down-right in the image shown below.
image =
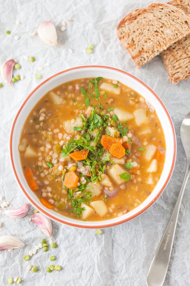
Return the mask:
<svg viewBox="0 0 190 286"><path fill-rule="evenodd" d="M36 225L38 225L38 227L41 229L41 231L43 231L43 233L45 233L53 241L53 239L51 238L52 223L51 223L49 218L45 217L40 212L37 212L36 214L33 214L31 216L30 221L32 221L32 223L35 223Z"/></svg>

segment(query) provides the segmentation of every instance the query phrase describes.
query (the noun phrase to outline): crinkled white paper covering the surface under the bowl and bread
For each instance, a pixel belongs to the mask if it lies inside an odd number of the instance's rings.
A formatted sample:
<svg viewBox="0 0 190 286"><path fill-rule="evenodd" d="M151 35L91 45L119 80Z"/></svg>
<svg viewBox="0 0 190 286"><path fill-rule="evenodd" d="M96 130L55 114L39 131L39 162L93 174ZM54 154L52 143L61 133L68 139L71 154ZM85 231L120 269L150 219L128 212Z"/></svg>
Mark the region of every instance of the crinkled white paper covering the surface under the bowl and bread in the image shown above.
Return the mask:
<svg viewBox="0 0 190 286"><path fill-rule="evenodd" d="M21 206L26 198L17 186L9 161L9 131L13 118L26 96L44 79L70 67L79 65L107 65L123 69L148 84L166 104L173 119L177 134L177 162L169 185L153 206L139 217L122 225L103 229L96 235L95 229L77 229L52 221L53 238L57 249L44 253L40 249L30 261L28 254L44 237L38 227L29 222L33 207L23 219L11 219L0 212L0 235L15 235L25 247L13 252L0 251L0 285L7 285L7 278L21 277L23 286L83 285L83 286L144 286L146 276L156 247L162 237L167 221L174 207L185 170L185 154L181 145L179 130L183 117L190 111L190 80L177 86L169 83L166 70L158 56L142 69L135 64L124 50L116 35L120 19L138 7L146 7L151 1L77 1L77 0L1 0L0 1L0 64L16 59L21 64L19 74L23 81L8 84L0 89L0 196L10 201L9 208ZM73 22L68 22L73 19ZM21 25L16 25L16 21ZM52 20L57 29L58 42L62 47L45 45L38 36L31 36L44 20ZM61 22L66 21L62 32ZM5 31L11 34L6 35ZM15 35L20 39L15 40ZM83 52L89 43L94 44L94 53ZM72 48L73 53L68 49ZM34 56L30 63L23 55ZM49 67L38 72L36 67ZM17 74L18 74L17 73ZM42 74L41 80L34 75ZM15 73L16 74L16 73ZM101 75L100 75L101 76ZM1 82L1 81L0 81ZM175 241L164 285L190 285L190 182L179 212ZM48 259L55 255L54 263ZM37 273L26 271L27 265L39 267ZM62 266L62 271L47 273L50 264Z"/></svg>

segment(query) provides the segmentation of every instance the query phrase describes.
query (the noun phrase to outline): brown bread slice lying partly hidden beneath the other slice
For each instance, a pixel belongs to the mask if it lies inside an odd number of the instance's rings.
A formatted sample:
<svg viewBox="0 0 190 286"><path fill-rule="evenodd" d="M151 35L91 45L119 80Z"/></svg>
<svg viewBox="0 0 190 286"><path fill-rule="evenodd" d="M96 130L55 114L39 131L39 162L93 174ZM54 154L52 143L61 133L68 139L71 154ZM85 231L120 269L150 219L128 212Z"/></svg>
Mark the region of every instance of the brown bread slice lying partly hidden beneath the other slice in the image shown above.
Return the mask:
<svg viewBox="0 0 190 286"><path fill-rule="evenodd" d="M190 15L190 0L173 0L168 4ZM190 34L161 53L171 84L190 77Z"/></svg>

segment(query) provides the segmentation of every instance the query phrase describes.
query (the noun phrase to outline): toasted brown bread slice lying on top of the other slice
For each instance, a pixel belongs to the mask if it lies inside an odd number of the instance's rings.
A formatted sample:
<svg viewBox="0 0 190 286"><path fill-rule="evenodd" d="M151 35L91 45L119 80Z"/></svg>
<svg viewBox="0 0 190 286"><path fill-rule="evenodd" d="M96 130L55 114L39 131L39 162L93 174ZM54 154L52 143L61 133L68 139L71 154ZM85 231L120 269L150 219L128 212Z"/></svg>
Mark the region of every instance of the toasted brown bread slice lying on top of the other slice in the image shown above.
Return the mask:
<svg viewBox="0 0 190 286"><path fill-rule="evenodd" d="M126 15L117 35L140 68L190 33L190 17L169 4L152 3Z"/></svg>

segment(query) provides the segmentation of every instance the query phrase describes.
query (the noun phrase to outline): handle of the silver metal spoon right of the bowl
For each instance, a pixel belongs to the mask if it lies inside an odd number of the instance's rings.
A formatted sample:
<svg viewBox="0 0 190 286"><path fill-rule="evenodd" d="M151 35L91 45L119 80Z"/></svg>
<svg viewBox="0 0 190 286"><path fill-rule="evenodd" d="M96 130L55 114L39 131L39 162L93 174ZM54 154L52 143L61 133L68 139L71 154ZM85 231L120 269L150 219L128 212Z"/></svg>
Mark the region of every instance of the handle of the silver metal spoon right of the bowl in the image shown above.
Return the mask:
<svg viewBox="0 0 190 286"><path fill-rule="evenodd" d="M146 283L148 286L162 286L166 278L167 269L169 266L169 260L171 256L171 249L173 246L173 239L175 235L175 229L177 225L177 217L179 214L179 208L181 205L181 200L187 184L187 180L190 173L190 166L187 163L185 175L183 178L183 183L175 203L175 207L168 221L167 227L164 234L160 240L158 248L156 249L155 255L152 259L150 269L148 271L148 276Z"/></svg>

